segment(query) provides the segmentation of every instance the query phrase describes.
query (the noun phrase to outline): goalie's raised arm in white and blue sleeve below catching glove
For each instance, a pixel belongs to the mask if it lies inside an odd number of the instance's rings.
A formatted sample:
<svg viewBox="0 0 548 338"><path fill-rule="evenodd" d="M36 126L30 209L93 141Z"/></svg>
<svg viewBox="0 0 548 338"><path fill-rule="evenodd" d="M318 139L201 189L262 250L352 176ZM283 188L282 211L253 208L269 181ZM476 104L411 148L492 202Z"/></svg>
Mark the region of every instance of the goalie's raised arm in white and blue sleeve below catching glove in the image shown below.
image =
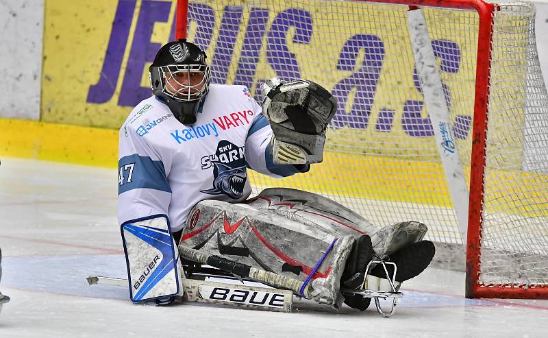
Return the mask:
<svg viewBox="0 0 548 338"><path fill-rule="evenodd" d="M258 107L260 111L260 107ZM257 111L257 110L256 110ZM305 173L310 169L305 165L277 165L273 162L272 128L261 114L256 114L245 141L245 158L247 165L254 171L275 178L292 176L295 173Z"/></svg>

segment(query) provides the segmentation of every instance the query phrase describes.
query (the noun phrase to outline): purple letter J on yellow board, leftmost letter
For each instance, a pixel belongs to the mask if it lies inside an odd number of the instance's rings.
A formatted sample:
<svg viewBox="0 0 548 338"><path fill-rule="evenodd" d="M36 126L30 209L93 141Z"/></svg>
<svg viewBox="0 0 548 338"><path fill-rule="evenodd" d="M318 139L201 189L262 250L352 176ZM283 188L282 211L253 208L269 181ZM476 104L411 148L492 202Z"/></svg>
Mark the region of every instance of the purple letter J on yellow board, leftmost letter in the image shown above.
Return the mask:
<svg viewBox="0 0 548 338"><path fill-rule="evenodd" d="M99 81L90 86L88 91L86 101L89 103L104 104L110 100L116 90L129 27L132 25L135 2L136 0L118 1Z"/></svg>

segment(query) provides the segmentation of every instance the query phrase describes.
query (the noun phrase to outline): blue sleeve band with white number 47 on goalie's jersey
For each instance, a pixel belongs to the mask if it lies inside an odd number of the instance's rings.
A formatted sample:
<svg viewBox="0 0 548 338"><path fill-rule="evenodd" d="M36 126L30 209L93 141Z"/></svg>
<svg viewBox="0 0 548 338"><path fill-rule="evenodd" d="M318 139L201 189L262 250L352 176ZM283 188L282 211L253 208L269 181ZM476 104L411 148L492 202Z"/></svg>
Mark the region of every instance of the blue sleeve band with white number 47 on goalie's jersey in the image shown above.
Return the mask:
<svg viewBox="0 0 548 338"><path fill-rule="evenodd" d="M171 193L162 161L137 154L124 156L118 161L118 195L133 189L155 189Z"/></svg>

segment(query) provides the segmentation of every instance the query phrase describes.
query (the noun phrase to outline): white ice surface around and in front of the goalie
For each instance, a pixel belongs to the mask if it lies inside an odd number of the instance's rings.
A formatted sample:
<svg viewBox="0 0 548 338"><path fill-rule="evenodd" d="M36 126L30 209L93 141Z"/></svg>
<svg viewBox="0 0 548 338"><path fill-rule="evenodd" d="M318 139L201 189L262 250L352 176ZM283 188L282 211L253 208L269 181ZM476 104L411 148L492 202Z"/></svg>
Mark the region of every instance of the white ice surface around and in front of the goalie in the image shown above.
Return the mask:
<svg viewBox="0 0 548 338"><path fill-rule="evenodd" d="M1 158L0 337L548 337L546 300L466 300L464 274L427 269L382 318L297 302L295 313L209 304L134 305L116 221L117 173Z"/></svg>

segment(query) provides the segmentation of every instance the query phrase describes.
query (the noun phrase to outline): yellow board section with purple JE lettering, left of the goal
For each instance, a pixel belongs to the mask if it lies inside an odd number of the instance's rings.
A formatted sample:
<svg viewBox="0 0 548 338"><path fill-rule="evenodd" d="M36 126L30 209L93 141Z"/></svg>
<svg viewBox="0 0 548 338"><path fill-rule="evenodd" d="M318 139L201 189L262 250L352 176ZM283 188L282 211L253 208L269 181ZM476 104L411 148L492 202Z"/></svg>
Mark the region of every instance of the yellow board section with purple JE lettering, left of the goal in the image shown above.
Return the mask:
<svg viewBox="0 0 548 338"><path fill-rule="evenodd" d="M118 129L151 95L145 60L168 41L174 14L171 1L46 1L41 120ZM136 50L143 35L147 49Z"/></svg>

